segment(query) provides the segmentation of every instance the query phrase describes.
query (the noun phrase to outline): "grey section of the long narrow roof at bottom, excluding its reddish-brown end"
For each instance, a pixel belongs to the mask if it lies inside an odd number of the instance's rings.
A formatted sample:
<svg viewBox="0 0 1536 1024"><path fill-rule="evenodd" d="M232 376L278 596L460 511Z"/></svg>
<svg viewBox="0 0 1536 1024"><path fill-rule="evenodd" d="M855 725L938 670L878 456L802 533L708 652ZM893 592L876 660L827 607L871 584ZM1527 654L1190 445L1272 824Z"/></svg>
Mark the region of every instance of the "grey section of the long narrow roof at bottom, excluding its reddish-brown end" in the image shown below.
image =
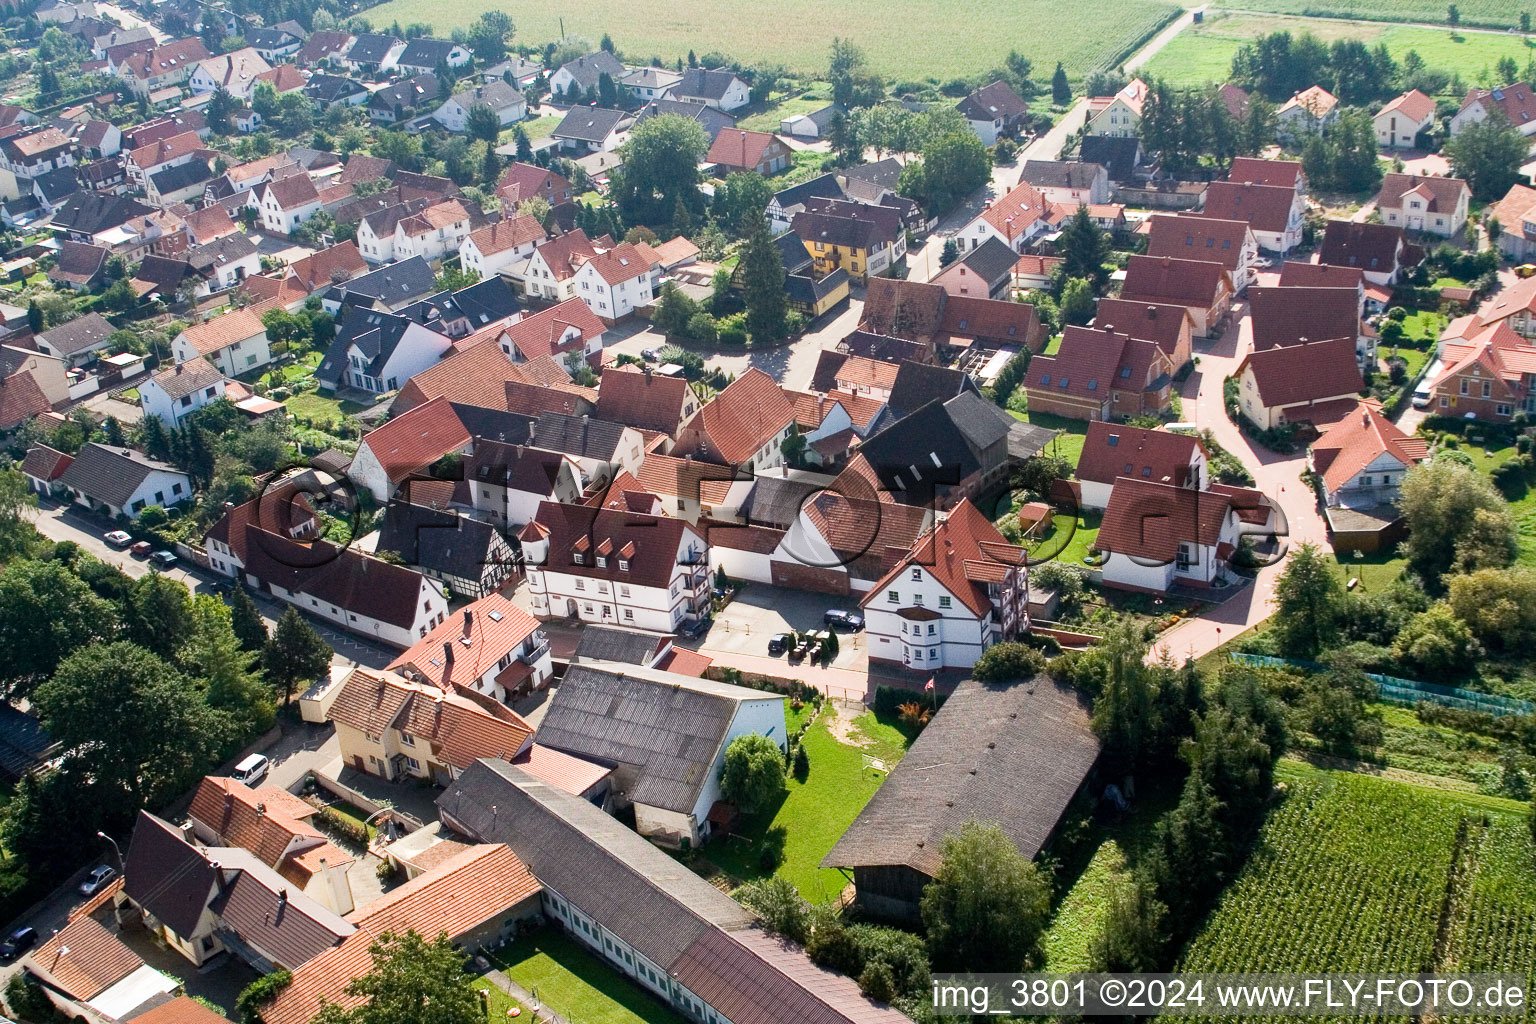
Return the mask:
<svg viewBox="0 0 1536 1024"><path fill-rule="evenodd" d="M470 765L438 811L481 843L510 846L545 887L662 970L703 932L756 920L613 815L499 758Z"/></svg>

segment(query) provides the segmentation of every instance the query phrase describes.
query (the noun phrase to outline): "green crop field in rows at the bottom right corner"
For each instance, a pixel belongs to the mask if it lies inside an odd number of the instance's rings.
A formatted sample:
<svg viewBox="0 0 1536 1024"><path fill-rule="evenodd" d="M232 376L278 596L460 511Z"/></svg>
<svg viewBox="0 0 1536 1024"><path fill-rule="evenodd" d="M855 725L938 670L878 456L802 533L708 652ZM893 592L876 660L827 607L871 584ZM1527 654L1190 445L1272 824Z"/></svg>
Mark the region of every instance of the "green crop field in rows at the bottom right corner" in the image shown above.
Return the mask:
<svg viewBox="0 0 1536 1024"><path fill-rule="evenodd" d="M1521 804L1293 761L1279 775L1284 803L1181 970L1531 969L1536 869Z"/></svg>

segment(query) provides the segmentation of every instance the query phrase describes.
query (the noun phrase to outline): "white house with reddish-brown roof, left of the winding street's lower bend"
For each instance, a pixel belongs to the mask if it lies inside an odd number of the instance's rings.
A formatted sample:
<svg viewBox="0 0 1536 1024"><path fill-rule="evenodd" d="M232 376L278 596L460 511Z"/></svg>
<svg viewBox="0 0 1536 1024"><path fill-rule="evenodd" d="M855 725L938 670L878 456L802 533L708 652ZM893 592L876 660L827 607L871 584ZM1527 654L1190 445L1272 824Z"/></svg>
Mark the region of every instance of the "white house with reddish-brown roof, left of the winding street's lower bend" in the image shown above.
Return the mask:
<svg viewBox="0 0 1536 1024"><path fill-rule="evenodd" d="M1121 477L1097 545L1104 551L1104 585L1163 594L1174 583L1212 586L1226 579L1240 539L1232 494Z"/></svg>

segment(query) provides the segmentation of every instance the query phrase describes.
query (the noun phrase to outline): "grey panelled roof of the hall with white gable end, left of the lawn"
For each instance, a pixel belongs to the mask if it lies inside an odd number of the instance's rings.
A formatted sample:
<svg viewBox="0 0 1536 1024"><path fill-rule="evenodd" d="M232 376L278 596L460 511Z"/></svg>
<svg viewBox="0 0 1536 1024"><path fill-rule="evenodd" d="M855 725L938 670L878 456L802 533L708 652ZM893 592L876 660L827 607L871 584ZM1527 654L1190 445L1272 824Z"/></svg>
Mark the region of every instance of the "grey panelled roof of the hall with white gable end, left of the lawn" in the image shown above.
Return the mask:
<svg viewBox="0 0 1536 1024"><path fill-rule="evenodd" d="M548 702L539 743L628 768L630 800L690 814L740 705L771 699L783 700L637 665L576 663Z"/></svg>

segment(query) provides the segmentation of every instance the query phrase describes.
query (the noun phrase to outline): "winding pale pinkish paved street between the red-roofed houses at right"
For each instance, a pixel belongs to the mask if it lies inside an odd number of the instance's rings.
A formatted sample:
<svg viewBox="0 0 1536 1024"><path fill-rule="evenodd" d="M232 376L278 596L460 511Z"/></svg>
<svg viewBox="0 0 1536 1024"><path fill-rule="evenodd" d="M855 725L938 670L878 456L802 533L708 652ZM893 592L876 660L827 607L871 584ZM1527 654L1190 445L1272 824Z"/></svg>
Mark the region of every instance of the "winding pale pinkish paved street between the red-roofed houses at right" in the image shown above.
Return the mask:
<svg viewBox="0 0 1536 1024"><path fill-rule="evenodd" d="M1221 382L1253 347L1247 304L1241 302L1235 309L1241 316L1221 338L1195 344L1200 365L1181 388L1184 419L1210 427L1217 442L1253 473L1253 485L1275 502L1281 513L1275 531L1279 534L1283 554L1273 565L1258 571L1252 586L1243 588L1226 603L1212 606L1195 619L1186 619L1158 637L1149 659L1157 657L1161 649L1167 649L1178 660L1201 657L1244 629L1264 622L1275 611L1275 583L1284 571L1289 553L1307 540L1327 548L1327 527L1318 511L1316 497L1301 482L1301 473L1307 468L1306 453L1279 454L1255 447L1236 424L1227 419Z"/></svg>

